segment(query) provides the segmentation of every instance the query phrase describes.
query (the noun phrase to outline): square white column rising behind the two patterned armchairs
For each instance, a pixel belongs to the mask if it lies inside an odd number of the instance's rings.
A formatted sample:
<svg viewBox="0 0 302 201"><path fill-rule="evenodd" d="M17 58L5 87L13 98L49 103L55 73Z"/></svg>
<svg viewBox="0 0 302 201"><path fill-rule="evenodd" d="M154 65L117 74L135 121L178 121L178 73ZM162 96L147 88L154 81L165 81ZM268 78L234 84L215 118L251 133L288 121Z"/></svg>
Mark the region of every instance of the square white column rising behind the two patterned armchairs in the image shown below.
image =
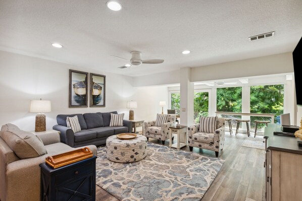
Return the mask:
<svg viewBox="0 0 302 201"><path fill-rule="evenodd" d="M194 123L194 83L190 82L191 68L180 69L180 119L181 125Z"/></svg>

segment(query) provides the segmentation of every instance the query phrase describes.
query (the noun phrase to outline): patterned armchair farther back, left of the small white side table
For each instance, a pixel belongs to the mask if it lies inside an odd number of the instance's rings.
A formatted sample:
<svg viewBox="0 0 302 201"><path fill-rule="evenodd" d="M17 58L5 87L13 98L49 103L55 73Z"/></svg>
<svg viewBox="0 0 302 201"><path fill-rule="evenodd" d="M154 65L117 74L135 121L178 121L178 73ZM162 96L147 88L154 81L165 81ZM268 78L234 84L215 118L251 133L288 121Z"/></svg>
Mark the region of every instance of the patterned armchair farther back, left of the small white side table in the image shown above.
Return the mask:
<svg viewBox="0 0 302 201"><path fill-rule="evenodd" d="M147 138L147 141L149 140L149 138L154 138L154 139L161 140L164 145L165 140L169 139L169 133L170 133L169 126L175 124L176 115L175 114L167 114L167 115L168 115L167 122L163 123L161 126L155 126L156 120L144 122L144 136Z"/></svg>

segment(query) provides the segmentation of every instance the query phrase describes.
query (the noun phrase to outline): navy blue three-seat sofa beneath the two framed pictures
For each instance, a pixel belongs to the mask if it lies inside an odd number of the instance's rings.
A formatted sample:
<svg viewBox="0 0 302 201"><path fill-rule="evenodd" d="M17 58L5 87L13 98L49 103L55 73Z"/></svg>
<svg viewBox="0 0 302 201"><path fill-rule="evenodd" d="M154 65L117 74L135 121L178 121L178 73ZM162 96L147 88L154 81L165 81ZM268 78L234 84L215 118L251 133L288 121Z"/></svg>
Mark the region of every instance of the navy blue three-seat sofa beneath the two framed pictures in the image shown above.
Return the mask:
<svg viewBox="0 0 302 201"><path fill-rule="evenodd" d="M58 114L57 125L53 129L60 131L61 142L69 145L70 147L82 147L86 145L104 145L109 136L117 135L123 132L132 131L132 121L123 120L123 126L109 126L111 115L113 112L96 112L84 114ZM67 127L66 118L68 116L78 116L81 130L73 132Z"/></svg>

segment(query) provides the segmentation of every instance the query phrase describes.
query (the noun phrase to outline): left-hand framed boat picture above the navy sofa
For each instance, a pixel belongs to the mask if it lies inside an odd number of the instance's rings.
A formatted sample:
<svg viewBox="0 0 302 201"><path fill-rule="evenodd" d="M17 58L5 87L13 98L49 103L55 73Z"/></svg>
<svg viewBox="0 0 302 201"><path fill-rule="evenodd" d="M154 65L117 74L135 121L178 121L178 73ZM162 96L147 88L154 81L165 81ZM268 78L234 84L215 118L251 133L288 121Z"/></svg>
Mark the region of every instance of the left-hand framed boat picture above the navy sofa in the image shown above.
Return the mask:
<svg viewBox="0 0 302 201"><path fill-rule="evenodd" d="M69 107L88 107L88 73L69 70Z"/></svg>

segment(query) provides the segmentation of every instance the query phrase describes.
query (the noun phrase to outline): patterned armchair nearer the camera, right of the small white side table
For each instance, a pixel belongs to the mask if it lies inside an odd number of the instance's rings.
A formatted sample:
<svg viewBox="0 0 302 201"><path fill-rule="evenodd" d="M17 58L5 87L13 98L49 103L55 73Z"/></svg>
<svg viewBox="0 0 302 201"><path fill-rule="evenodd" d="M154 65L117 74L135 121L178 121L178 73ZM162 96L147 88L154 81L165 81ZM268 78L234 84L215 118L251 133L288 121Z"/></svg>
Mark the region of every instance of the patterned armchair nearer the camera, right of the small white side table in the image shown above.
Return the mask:
<svg viewBox="0 0 302 201"><path fill-rule="evenodd" d="M216 157L224 145L225 118L217 118L216 130L211 132L200 132L200 122L188 127L188 146L190 151L193 147L215 151Z"/></svg>

